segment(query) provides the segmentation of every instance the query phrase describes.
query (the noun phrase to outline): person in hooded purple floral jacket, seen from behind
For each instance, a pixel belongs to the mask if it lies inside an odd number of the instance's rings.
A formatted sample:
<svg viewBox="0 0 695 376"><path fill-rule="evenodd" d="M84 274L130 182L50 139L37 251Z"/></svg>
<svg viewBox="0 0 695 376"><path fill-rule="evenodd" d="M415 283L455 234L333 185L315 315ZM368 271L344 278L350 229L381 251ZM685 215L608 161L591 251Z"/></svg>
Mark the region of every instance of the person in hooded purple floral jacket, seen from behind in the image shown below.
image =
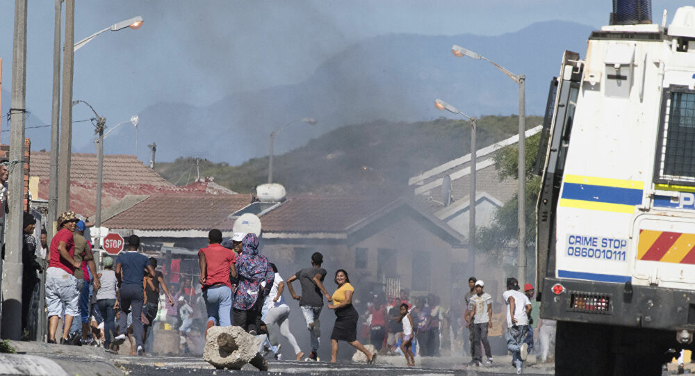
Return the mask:
<svg viewBox="0 0 695 376"><path fill-rule="evenodd" d="M246 332L256 335L261 319L261 307L265 295L270 293L275 273L268 265L268 259L259 254L259 238L247 234L241 240L241 254L236 259L236 272L239 283L234 293L234 319L232 325L242 327ZM261 283L265 282L265 287Z"/></svg>

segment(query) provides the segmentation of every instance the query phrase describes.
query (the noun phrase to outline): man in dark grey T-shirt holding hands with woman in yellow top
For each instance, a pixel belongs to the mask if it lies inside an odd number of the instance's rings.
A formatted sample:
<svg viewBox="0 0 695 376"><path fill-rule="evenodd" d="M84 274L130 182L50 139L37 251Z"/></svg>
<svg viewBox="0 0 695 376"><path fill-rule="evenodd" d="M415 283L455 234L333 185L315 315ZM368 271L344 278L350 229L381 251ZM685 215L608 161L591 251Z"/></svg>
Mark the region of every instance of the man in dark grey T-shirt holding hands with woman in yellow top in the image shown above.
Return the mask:
<svg viewBox="0 0 695 376"><path fill-rule="evenodd" d="M300 309L306 320L306 327L309 329L311 341L311 352L309 359L318 360L318 345L321 338L321 327L318 316L323 308L323 297L331 302L333 298L328 294L326 288L323 287L323 279L326 277L326 270L321 268L323 263L323 255L320 252L314 252L311 255L311 268L304 268L295 275L287 279L287 288L294 300L300 301ZM292 288L292 282L299 279L302 285L302 295L297 295Z"/></svg>

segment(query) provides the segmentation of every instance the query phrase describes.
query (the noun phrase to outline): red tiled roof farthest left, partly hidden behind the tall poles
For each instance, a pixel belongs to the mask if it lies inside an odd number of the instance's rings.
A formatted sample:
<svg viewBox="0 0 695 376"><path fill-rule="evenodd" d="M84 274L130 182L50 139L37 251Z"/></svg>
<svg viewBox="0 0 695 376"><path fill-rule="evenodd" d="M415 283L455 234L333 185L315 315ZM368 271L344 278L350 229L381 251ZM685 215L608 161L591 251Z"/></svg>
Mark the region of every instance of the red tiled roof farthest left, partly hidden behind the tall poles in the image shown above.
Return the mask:
<svg viewBox="0 0 695 376"><path fill-rule="evenodd" d="M50 178L51 154L31 152L29 171L41 180ZM72 153L70 159L71 181L97 181L97 154ZM104 183L147 184L150 186L174 186L156 171L144 165L136 156L123 154L104 155ZM44 198L44 197L42 197Z"/></svg>

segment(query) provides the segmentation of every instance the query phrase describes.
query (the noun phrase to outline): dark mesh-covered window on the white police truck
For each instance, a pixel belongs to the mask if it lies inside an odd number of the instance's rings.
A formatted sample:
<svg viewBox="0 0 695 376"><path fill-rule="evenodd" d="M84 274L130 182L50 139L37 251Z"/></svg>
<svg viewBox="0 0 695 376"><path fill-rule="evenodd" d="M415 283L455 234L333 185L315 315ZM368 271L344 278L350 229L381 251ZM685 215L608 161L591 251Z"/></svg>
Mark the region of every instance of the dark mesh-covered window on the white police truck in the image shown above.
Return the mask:
<svg viewBox="0 0 695 376"><path fill-rule="evenodd" d="M695 186L695 90L664 92L655 183Z"/></svg>

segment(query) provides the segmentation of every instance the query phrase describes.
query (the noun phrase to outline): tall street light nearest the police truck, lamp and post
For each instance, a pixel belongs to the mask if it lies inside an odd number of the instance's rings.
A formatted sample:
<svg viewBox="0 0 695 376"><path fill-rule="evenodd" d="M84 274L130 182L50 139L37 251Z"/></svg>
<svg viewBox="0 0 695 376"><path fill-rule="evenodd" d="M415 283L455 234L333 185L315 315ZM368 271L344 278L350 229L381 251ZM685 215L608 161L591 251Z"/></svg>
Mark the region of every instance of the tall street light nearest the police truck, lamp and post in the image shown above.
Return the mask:
<svg viewBox="0 0 695 376"><path fill-rule="evenodd" d="M489 63L501 70L502 73L509 76L510 79L519 85L519 158L518 158L518 191L516 195L518 196L518 281L521 286L526 282L526 217L525 217L525 183L526 183L526 94L525 94L525 81L526 76L524 74L513 74L506 70L504 67L493 62L489 58L486 58L480 54L476 54L473 51L464 49L464 47L457 46L456 44L451 47L451 53L457 58L468 56L469 58L487 60Z"/></svg>

